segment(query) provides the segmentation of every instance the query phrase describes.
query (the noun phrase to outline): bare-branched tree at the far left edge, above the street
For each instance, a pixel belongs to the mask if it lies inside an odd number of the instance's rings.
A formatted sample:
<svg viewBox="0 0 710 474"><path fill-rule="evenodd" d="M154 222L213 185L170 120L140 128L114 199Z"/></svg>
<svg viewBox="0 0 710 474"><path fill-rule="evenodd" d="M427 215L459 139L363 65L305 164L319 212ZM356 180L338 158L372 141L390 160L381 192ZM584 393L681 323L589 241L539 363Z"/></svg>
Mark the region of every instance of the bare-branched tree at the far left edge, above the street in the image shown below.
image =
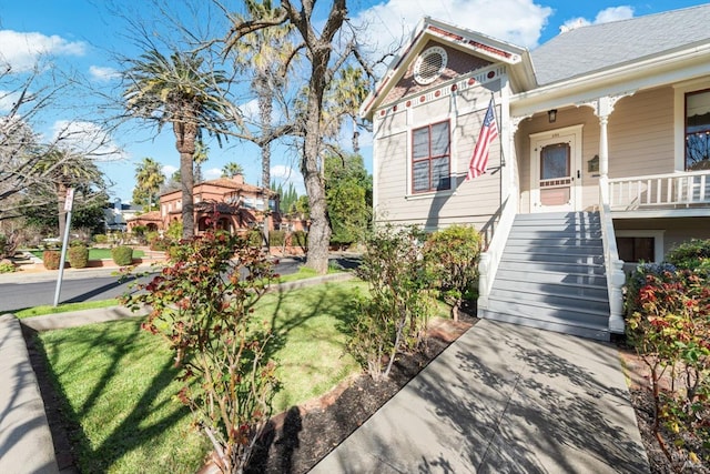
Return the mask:
<svg viewBox="0 0 710 474"><path fill-rule="evenodd" d="M38 117L72 84L65 78L57 81L41 77L40 71L38 65L24 79L14 75L9 67L0 73L0 102L12 104L0 117L0 221L20 218L26 208L57 202L58 190L68 182L67 170L91 168L91 177L75 173L71 181L72 185L82 185L87 201L105 191L105 182L93 163L106 153L111 142L101 127L64 121L49 140L32 129ZM61 226L63 211L59 219Z"/></svg>

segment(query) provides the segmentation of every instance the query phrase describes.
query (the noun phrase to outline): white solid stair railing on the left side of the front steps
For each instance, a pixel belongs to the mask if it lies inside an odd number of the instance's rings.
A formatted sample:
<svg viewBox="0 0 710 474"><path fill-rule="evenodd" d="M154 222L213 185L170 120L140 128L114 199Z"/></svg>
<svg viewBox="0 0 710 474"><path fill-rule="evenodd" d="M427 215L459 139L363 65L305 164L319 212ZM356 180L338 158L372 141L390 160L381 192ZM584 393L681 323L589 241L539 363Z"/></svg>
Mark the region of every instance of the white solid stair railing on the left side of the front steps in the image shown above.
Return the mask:
<svg viewBox="0 0 710 474"><path fill-rule="evenodd" d="M501 205L500 220L493 233L488 249L480 254L478 261L478 309L481 310L488 307L488 295L496 280L496 273L498 273L498 265L500 264L500 258L508 241L510 229L513 229L513 221L515 221L516 206L513 205L510 195Z"/></svg>

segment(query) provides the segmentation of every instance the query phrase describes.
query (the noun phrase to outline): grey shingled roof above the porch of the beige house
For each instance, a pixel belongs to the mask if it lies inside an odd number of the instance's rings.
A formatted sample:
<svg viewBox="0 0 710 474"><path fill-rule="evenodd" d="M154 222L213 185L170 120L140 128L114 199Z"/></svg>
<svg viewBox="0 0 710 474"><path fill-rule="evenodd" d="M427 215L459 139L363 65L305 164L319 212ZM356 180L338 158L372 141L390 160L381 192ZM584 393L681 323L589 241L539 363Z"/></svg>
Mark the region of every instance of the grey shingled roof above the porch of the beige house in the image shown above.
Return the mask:
<svg viewBox="0 0 710 474"><path fill-rule="evenodd" d="M710 4L580 27L530 52L539 85L710 40Z"/></svg>

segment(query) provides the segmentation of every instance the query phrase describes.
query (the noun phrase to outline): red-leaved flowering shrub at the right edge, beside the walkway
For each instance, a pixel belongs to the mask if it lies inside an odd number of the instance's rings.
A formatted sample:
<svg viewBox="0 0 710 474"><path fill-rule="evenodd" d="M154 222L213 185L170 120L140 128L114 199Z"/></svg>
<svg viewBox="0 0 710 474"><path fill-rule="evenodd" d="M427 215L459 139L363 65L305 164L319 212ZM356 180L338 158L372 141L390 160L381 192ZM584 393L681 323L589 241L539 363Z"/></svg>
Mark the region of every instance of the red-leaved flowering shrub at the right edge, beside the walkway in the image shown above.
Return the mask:
<svg viewBox="0 0 710 474"><path fill-rule="evenodd" d="M693 447L710 448L708 273L639 265L628 291L627 335L651 372L657 438L669 460L699 462Z"/></svg>

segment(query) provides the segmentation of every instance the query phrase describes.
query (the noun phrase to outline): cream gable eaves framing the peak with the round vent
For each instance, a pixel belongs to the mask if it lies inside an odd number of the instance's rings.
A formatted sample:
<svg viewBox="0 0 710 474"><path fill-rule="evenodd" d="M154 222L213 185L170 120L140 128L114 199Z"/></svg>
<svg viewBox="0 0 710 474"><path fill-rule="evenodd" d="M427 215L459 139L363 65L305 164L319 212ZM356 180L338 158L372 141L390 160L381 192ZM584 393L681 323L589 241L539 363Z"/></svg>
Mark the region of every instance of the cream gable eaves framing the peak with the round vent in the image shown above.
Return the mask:
<svg viewBox="0 0 710 474"><path fill-rule="evenodd" d="M424 17L412 32L409 40L389 62L386 73L377 82L374 91L363 101L359 110L362 118L372 120L375 109L404 77L408 64L415 60L429 40L446 43L494 63L507 64L513 82L518 84L514 85L514 90L527 90L535 85L535 74L529 51L526 48Z"/></svg>

